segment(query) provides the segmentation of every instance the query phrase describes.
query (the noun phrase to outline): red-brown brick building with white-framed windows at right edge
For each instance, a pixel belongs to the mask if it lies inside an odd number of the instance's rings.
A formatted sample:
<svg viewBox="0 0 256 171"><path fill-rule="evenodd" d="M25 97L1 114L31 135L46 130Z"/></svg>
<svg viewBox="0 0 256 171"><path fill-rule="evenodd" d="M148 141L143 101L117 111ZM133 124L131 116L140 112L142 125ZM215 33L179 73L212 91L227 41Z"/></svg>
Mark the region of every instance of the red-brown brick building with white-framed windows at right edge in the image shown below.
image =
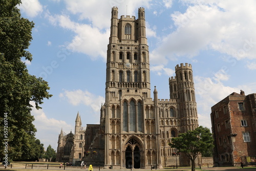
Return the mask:
<svg viewBox="0 0 256 171"><path fill-rule="evenodd" d="M232 93L211 107L214 165L256 162L256 94Z"/></svg>

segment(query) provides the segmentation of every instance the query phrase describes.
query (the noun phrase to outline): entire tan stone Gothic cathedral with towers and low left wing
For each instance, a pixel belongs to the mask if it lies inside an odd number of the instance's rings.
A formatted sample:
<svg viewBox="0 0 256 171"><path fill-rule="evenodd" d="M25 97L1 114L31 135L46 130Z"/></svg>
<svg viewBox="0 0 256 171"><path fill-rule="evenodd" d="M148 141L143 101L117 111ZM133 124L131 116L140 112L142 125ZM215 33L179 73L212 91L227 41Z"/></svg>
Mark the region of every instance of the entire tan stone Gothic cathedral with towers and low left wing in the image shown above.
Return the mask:
<svg viewBox="0 0 256 171"><path fill-rule="evenodd" d="M82 129L77 115L73 141L63 135L59 138L62 152L57 150L57 161L70 153L69 161L104 168L190 165L190 160L168 143L198 127L192 67L188 63L175 67L176 76L169 78L169 99L158 99L156 87L152 98L145 31L144 8L138 9L137 19L129 15L118 18L118 8L112 8L100 124L87 124L86 130L78 133ZM73 146L68 148L68 143Z"/></svg>

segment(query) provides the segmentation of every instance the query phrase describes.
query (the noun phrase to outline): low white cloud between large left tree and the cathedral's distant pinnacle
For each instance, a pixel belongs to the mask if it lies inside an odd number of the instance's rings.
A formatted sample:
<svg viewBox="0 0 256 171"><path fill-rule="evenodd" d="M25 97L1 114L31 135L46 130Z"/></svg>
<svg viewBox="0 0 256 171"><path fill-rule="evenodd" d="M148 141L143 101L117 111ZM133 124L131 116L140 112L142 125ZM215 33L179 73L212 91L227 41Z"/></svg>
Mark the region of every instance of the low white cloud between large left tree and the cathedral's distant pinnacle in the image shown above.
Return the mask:
<svg viewBox="0 0 256 171"><path fill-rule="evenodd" d="M35 102L30 103L35 106ZM70 130L74 129L63 120L48 118L42 109L37 110L32 108L31 114L35 118L33 124L37 129L36 138L39 139L45 147L51 144L51 146L56 149L60 130L63 128L64 132L69 133Z"/></svg>

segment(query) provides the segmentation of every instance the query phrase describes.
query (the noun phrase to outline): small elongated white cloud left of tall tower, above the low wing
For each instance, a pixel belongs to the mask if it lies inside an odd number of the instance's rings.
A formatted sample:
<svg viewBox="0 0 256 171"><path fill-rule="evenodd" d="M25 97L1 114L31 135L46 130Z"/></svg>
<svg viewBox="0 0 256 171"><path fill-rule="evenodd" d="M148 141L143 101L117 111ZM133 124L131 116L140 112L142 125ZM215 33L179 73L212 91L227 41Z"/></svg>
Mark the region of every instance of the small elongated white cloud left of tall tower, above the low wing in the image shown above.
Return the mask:
<svg viewBox="0 0 256 171"><path fill-rule="evenodd" d="M101 104L105 102L104 97L96 96L88 91L64 90L63 93L59 94L60 98L68 98L69 103L72 105L84 104L90 106L95 113L99 113Z"/></svg>

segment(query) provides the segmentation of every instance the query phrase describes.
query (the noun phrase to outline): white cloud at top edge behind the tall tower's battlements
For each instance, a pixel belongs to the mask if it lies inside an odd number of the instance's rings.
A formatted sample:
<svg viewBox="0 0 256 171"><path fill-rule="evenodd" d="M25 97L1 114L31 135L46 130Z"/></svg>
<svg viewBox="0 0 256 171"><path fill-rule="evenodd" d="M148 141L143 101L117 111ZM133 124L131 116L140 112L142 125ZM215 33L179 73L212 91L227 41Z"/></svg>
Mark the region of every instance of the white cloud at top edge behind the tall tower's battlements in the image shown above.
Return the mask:
<svg viewBox="0 0 256 171"><path fill-rule="evenodd" d="M118 12L127 15L137 16L138 7L148 7L148 0L111 0L111 1L95 1L95 0L66 0L67 9L73 14L79 14L80 19L88 19L92 23L92 27L99 29L110 27L111 8L118 7ZM108 14L108 15L105 15ZM100 21L100 22L99 22Z"/></svg>

